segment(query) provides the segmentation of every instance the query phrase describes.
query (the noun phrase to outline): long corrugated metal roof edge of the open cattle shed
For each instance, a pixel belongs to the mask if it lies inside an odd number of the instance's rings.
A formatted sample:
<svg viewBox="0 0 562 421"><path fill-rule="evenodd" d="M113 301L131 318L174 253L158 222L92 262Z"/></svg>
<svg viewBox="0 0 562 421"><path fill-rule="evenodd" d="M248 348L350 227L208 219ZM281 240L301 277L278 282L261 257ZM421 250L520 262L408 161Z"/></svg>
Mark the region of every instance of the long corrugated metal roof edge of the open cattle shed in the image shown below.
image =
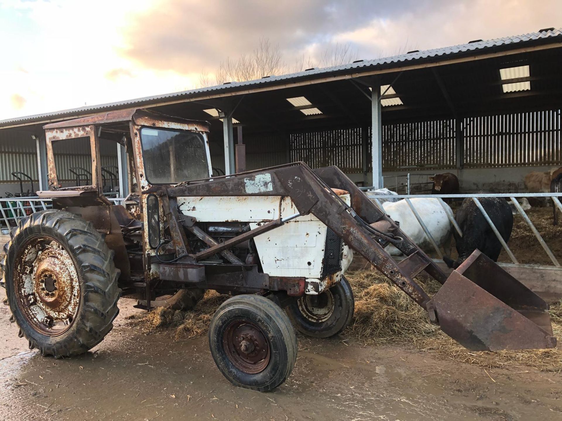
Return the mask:
<svg viewBox="0 0 562 421"><path fill-rule="evenodd" d="M306 79L316 79L319 77L328 76L330 74L346 74L350 70L361 72L372 70L373 67L384 67L392 68L397 67L399 63L404 63L407 61L423 61L439 58L442 56L447 56L450 58L451 55L470 53L474 51L484 50L483 52L488 52L488 49L499 49L504 47L509 48L512 44L519 43L539 43L540 41L545 43L551 42L562 42L562 28L555 30L542 31L538 33L529 33L523 35L507 36L505 38L496 38L486 41L470 42L468 44L454 45L452 47L443 47L429 49L425 51L415 51L407 54L399 54L397 56L377 58L375 60L365 60L357 61L355 63L349 63L341 66L324 67L324 68L312 68L310 70L297 72L293 74L281 75L281 76L270 76L262 77L261 79L249 80L244 82L232 82L223 85L209 86L208 88L199 88L192 90L185 90L180 92L174 92L163 95L154 95L152 97L143 97L129 99L120 102L113 102L107 104L99 104L94 106L86 106L80 108L66 109L62 111L43 113L33 116L24 116L9 118L7 120L0 121L1 126L13 125L16 123L27 123L42 121L50 118L64 118L67 115L87 115L87 113L95 113L103 111L107 108L119 108L119 107L138 107L138 106L149 106L151 103L165 102L166 100L178 100L182 98L194 98L203 95L208 95L210 93L220 93L224 92L234 92L237 90L242 90L248 86L255 85L277 85L279 83L291 83L298 80Z"/></svg>

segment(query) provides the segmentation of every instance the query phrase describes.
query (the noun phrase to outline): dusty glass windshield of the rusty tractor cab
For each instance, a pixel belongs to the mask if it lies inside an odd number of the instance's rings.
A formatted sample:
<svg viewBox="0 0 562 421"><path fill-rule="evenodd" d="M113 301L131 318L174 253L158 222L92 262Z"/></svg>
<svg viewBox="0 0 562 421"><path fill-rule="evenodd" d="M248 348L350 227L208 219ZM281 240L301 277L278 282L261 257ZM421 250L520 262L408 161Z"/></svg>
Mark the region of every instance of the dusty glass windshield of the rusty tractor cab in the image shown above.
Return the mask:
<svg viewBox="0 0 562 421"><path fill-rule="evenodd" d="M140 141L144 171L150 184L176 184L209 177L201 133L143 127Z"/></svg>

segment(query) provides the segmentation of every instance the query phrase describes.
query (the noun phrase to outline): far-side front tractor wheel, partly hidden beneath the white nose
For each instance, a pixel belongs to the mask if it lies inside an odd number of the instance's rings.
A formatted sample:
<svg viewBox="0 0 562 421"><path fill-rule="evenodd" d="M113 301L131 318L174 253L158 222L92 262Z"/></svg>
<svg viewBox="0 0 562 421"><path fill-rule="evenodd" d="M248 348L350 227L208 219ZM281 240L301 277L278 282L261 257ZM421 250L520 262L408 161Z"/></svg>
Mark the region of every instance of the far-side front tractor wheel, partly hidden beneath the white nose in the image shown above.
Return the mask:
<svg viewBox="0 0 562 421"><path fill-rule="evenodd" d="M317 338L343 332L351 323L353 310L353 291L343 276L329 290L318 295L303 295L285 308L299 332Z"/></svg>

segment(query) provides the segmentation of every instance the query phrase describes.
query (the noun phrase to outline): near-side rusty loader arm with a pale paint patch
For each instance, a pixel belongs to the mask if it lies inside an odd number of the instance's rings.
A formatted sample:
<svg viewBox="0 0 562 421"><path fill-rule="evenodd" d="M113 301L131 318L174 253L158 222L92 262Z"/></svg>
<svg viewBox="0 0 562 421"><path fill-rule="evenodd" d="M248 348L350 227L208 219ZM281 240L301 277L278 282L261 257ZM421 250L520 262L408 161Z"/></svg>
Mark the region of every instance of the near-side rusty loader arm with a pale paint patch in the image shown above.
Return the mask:
<svg viewBox="0 0 562 421"><path fill-rule="evenodd" d="M429 301L429 296L413 280L413 277L430 262L423 251L416 248L416 250L410 251L410 255L415 254L413 257L405 259L400 264L395 262L379 244L377 236L366 230L353 218L346 205L306 164L275 167L260 170L259 173L249 172L198 184L172 187L168 189L168 194L172 197L290 196L301 215L314 214L416 303L425 308L425 303ZM388 218L382 212L379 212L379 217ZM428 263L425 263L425 260Z"/></svg>

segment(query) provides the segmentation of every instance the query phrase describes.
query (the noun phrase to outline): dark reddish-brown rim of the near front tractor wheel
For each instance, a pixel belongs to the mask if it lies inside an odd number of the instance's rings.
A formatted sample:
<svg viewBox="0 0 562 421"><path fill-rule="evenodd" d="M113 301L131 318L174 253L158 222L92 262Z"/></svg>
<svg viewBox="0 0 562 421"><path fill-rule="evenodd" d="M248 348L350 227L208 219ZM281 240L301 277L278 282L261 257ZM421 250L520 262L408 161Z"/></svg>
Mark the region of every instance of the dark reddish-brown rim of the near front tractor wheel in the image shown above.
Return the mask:
<svg viewBox="0 0 562 421"><path fill-rule="evenodd" d="M234 367L247 374L261 373L270 360L267 335L246 319L231 322L224 332L224 350Z"/></svg>

